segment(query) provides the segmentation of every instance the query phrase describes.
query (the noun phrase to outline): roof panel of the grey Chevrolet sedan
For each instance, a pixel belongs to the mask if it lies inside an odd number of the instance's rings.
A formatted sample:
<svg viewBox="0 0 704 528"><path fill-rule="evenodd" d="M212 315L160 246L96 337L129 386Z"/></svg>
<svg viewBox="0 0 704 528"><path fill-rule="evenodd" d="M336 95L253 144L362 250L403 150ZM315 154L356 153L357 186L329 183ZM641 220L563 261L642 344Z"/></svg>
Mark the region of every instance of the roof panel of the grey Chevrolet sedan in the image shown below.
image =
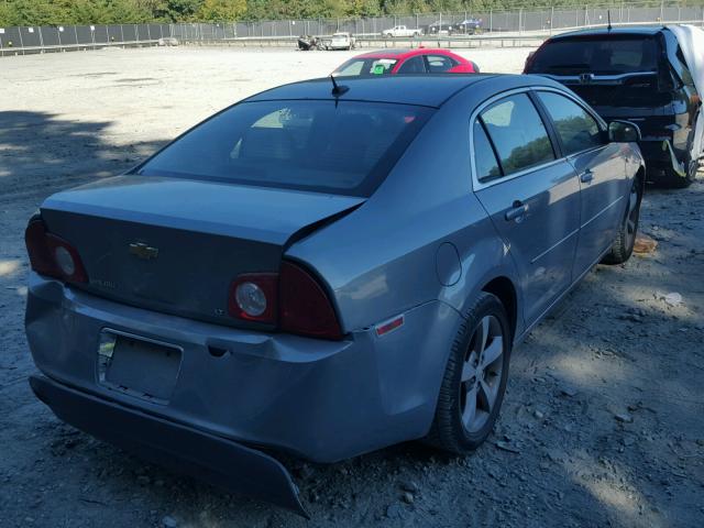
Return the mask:
<svg viewBox="0 0 704 528"><path fill-rule="evenodd" d="M339 77L338 85L349 89L340 100L376 101L402 105L440 107L461 89L481 80L501 77L485 74L389 75L370 77ZM330 77L279 86L250 97L246 101L282 99L333 99Z"/></svg>

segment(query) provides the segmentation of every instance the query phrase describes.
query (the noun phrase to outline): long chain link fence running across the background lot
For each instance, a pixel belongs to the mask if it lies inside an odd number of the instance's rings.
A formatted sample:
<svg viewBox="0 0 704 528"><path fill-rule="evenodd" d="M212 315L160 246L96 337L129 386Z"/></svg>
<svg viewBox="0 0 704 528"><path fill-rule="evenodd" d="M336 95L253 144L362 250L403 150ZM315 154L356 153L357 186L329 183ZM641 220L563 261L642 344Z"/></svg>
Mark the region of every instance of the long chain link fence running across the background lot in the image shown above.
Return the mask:
<svg viewBox="0 0 704 528"><path fill-rule="evenodd" d="M0 56L106 46L152 46L175 43L227 43L266 38L293 38L299 35L331 35L350 32L358 37L375 38L395 25L418 29L425 34L463 35L460 24L481 20L481 32L502 34L551 34L553 32L605 25L608 12L614 24L673 23L702 24L704 7L661 3L660 6L623 4L603 7L519 9L460 13L422 13L374 18L273 20L227 23L66 25L0 28ZM443 40L447 36L443 36Z"/></svg>

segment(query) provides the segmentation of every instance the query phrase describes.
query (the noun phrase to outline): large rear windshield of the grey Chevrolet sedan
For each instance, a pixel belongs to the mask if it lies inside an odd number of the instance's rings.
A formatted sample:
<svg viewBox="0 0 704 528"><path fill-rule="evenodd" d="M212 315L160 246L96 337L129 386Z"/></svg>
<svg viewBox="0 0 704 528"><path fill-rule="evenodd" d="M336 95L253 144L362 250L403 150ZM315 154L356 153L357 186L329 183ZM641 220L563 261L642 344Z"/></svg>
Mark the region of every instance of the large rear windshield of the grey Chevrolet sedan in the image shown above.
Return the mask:
<svg viewBox="0 0 704 528"><path fill-rule="evenodd" d="M166 146L138 174L369 197L431 111L360 101L242 102Z"/></svg>

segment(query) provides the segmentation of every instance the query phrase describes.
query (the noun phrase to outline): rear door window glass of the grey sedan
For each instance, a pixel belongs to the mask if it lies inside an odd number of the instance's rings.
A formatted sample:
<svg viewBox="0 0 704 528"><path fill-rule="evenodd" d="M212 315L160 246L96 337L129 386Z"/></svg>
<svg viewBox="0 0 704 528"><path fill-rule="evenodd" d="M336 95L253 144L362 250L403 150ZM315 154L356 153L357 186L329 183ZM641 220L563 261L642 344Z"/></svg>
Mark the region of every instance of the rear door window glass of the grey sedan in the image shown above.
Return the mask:
<svg viewBox="0 0 704 528"><path fill-rule="evenodd" d="M526 94L495 102L481 119L506 176L554 160L546 127Z"/></svg>

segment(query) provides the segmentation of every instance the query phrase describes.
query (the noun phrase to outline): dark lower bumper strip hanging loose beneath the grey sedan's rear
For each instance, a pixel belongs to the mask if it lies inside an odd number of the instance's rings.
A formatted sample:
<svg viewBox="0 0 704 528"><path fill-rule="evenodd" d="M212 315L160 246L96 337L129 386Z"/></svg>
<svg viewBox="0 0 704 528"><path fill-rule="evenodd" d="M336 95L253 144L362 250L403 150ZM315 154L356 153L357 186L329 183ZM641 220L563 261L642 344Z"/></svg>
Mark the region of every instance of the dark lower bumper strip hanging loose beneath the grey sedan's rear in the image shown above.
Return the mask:
<svg viewBox="0 0 704 528"><path fill-rule="evenodd" d="M218 487L308 517L286 469L261 451L76 391L44 376L31 376L30 385L59 419L89 435Z"/></svg>

